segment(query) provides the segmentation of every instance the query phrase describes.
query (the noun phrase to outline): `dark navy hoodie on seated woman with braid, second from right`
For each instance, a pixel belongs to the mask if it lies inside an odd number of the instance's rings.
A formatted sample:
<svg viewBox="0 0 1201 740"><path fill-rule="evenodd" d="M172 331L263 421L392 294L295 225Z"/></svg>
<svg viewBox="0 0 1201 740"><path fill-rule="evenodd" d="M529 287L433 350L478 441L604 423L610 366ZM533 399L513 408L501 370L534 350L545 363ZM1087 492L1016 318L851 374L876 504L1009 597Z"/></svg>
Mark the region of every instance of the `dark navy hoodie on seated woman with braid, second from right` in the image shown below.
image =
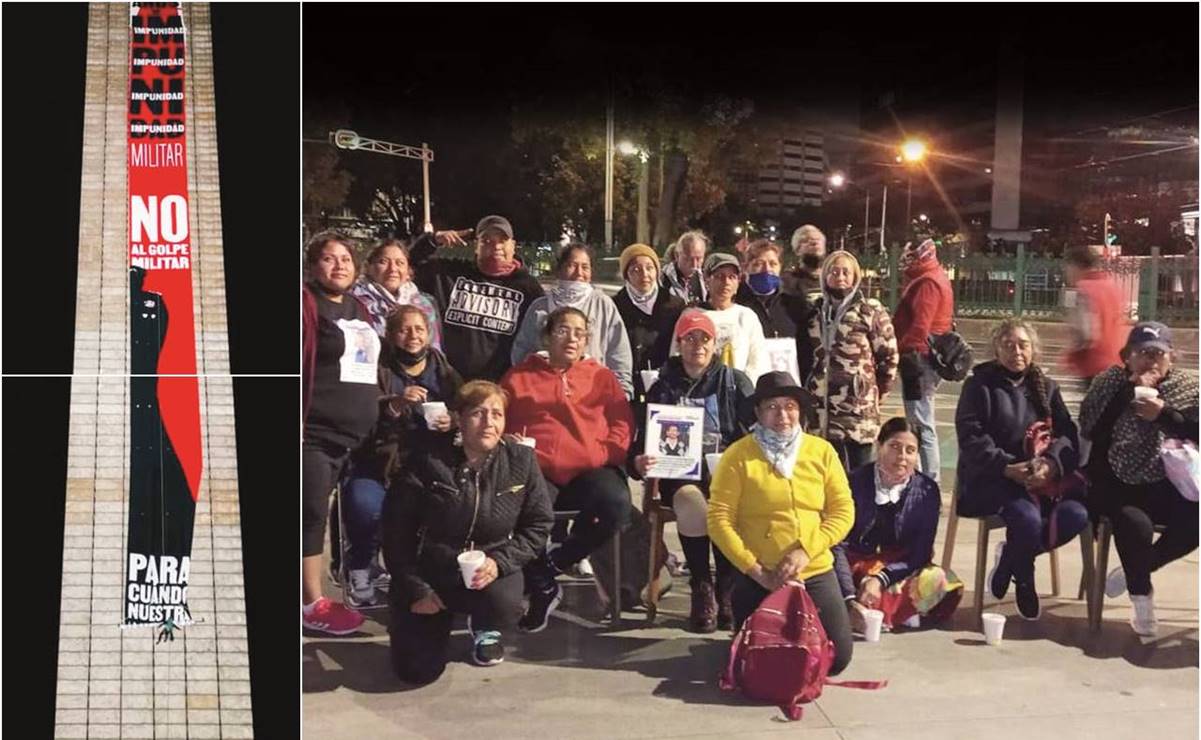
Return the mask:
<svg viewBox="0 0 1201 740"><path fill-rule="evenodd" d="M1032 400L1034 389L1029 375L1015 386L1006 372L997 360L981 363L960 393L955 432L960 442L956 485L961 517L996 514L1006 501L1027 495L1022 485L1004 476L1004 470L1006 465L1029 459L1026 430L1041 417ZM1059 387L1050 377L1046 389L1052 424L1046 456L1054 460L1060 476L1069 476L1076 470L1080 448L1076 424Z"/></svg>

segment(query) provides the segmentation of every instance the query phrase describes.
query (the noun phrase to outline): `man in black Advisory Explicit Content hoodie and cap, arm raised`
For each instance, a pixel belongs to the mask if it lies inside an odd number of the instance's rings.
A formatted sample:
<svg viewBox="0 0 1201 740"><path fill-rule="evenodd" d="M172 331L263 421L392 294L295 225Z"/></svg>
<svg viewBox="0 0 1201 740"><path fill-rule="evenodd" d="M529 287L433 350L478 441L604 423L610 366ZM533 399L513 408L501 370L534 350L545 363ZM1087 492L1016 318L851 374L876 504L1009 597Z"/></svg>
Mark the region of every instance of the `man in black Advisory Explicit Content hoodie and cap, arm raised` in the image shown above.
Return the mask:
<svg viewBox="0 0 1201 740"><path fill-rule="evenodd" d="M470 232L423 234L410 250L417 287L442 314L442 347L465 380L498 381L509 369L513 336L542 286L514 256L513 226L484 216L476 226L476 259L434 257L440 246L464 246Z"/></svg>

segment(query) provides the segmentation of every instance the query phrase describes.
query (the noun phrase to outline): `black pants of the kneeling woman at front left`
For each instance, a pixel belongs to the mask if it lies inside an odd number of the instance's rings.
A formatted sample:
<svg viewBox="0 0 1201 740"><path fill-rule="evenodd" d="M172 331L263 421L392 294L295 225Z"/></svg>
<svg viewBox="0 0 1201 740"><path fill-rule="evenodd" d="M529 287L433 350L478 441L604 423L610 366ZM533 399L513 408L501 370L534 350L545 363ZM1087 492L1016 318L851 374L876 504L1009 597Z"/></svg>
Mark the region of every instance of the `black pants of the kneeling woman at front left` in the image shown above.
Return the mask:
<svg viewBox="0 0 1201 740"><path fill-rule="evenodd" d="M437 591L446 609L437 614L413 614L411 604L392 603L392 667L406 684L436 681L447 667L450 628L455 614L471 616L476 632L512 629L521 617L521 592L525 580L521 571L509 573L472 591L459 581Z"/></svg>

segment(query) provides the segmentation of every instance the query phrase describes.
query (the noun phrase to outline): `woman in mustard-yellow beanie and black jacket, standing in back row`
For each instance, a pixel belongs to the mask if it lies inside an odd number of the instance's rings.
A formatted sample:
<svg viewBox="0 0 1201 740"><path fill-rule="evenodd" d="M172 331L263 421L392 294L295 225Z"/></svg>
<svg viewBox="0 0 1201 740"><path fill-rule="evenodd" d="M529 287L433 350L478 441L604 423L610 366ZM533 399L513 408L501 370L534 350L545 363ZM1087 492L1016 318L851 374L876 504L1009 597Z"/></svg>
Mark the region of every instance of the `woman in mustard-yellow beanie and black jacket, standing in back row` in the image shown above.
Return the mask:
<svg viewBox="0 0 1201 740"><path fill-rule="evenodd" d="M626 285L613 302L626 326L634 360L634 401L650 390L643 384L643 370L658 370L668 362L671 329L683 312L683 299L659 286L659 256L645 244L631 244L619 258ZM638 417L635 416L635 419Z"/></svg>

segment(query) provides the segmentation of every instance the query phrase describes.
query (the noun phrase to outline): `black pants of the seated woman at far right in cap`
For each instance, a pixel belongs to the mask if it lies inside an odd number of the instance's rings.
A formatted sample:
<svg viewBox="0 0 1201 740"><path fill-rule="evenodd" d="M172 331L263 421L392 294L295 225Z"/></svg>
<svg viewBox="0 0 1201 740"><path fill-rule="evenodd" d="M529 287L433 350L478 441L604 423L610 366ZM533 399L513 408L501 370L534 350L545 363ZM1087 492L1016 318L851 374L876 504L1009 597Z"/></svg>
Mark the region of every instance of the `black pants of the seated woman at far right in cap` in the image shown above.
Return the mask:
<svg viewBox="0 0 1201 740"><path fill-rule="evenodd" d="M1151 593L1151 574L1197 549L1197 503L1185 501L1170 481L1125 485L1115 479L1097 509L1113 523L1113 544L1125 571L1127 590ZM1154 539L1154 525L1164 533Z"/></svg>

